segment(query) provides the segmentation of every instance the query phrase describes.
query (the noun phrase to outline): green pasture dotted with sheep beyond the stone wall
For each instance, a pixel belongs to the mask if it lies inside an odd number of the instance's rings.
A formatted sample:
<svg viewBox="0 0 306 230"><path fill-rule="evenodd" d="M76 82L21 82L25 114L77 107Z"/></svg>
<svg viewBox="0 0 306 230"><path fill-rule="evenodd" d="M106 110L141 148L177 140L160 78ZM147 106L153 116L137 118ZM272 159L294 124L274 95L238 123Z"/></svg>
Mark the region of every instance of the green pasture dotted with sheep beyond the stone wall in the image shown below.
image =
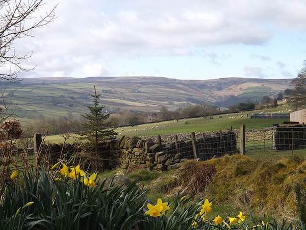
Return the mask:
<svg viewBox="0 0 306 230"><path fill-rule="evenodd" d="M174 133L189 133L189 132L203 132L203 131L216 131L220 129L229 129L231 126L233 129L239 128L240 125L245 124L247 128L261 128L272 127L273 124L281 124L285 119L250 119L251 113L256 112L278 112L286 111L285 106L278 106L273 109L255 110L244 113L229 113L213 116L213 119L209 118L191 118L181 119L176 121L164 121L157 123L148 123L137 125L134 127L120 127L117 128L118 136L146 136L146 135L162 135L162 134L174 134ZM236 116L236 118L233 118ZM68 142L71 143L75 140L75 136L71 137ZM61 135L50 135L46 138L50 143L61 143L63 137Z"/></svg>

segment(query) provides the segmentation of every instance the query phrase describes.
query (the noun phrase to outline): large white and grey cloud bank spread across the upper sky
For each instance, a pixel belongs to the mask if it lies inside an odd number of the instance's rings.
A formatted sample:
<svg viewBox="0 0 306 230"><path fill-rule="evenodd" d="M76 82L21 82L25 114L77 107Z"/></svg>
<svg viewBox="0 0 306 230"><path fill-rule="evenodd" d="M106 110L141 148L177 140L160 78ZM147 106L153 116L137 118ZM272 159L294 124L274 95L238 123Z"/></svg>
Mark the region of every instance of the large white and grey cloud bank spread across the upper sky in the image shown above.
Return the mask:
<svg viewBox="0 0 306 230"><path fill-rule="evenodd" d="M37 65L22 76L112 75L120 71L107 63L118 57L186 56L224 44L262 45L273 37L273 28L306 29L304 12L306 2L297 0L65 0L53 24L16 48L33 51L27 65ZM220 64L227 54L203 56ZM245 72L263 76L257 67L246 66Z"/></svg>

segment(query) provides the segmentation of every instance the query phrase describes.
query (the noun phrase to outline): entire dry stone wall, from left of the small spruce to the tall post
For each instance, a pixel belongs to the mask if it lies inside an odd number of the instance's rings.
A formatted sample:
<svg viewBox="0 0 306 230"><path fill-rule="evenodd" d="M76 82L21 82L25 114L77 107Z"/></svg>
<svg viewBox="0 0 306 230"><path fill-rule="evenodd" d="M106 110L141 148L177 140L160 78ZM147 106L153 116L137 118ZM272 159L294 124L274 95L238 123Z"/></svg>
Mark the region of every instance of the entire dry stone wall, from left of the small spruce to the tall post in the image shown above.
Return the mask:
<svg viewBox="0 0 306 230"><path fill-rule="evenodd" d="M169 170L177 167L187 159L199 158L202 160L232 154L237 151L237 134L235 131L214 132L205 137L196 135L194 153L190 134L188 140L163 142L159 146L157 139L149 137L128 137L111 142L100 143L98 155L86 144L52 144L44 145L45 153L50 154L50 161L56 163L63 148L65 158L76 156L84 167L97 169L99 165L110 168L121 167L128 169L137 166L151 170ZM186 136L187 138L187 136ZM107 160L107 164L106 161ZM101 167L102 168L102 167Z"/></svg>

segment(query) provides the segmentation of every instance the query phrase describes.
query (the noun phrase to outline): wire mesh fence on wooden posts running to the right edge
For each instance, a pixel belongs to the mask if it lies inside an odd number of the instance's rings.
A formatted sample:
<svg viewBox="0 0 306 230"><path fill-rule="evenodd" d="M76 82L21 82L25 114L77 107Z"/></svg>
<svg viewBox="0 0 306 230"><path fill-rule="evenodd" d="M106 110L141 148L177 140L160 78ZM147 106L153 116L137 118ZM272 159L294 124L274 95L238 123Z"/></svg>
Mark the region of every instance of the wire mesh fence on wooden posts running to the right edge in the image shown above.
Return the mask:
<svg viewBox="0 0 306 230"><path fill-rule="evenodd" d="M223 130L208 135L197 133L194 137L191 134L184 137L184 140L163 143L163 151L173 155L179 153L181 158L203 160L225 154L259 158L306 156L306 127L302 125L247 127L245 130ZM244 150L241 148L243 145Z"/></svg>

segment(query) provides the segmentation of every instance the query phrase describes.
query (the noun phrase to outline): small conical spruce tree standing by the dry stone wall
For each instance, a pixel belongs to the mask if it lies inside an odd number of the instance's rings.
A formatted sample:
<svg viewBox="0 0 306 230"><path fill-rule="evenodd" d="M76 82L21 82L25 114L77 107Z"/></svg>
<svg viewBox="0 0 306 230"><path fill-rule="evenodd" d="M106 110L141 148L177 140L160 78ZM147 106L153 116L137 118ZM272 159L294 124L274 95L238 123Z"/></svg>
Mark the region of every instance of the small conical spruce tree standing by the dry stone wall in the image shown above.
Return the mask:
<svg viewBox="0 0 306 230"><path fill-rule="evenodd" d="M96 154L98 153L98 144L100 142L114 139L114 135L117 135L114 128L111 128L111 124L107 121L110 114L103 111L105 106L99 104L100 96L94 86L94 95L91 95L93 105L88 106L89 113L83 115L87 121L83 123L85 132L81 134L82 139L87 139L94 145Z"/></svg>

